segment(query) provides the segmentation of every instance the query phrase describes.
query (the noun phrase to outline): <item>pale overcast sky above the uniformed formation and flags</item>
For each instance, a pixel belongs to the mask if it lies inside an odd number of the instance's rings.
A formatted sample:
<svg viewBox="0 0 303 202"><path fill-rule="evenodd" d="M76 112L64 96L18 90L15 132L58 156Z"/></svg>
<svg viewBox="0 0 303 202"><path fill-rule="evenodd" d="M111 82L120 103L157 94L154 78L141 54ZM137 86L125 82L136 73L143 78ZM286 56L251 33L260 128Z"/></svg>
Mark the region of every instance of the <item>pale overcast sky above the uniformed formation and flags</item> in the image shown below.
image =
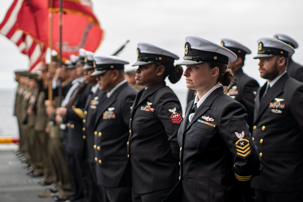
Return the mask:
<svg viewBox="0 0 303 202"><path fill-rule="evenodd" d="M13 0L1 1L0 19L5 17ZM96 54L111 55L126 40L119 57L131 64L136 61L137 43L147 42L184 57L185 37L196 35L220 44L231 38L251 49L244 71L261 85L257 40L281 32L299 43L293 59L303 63L303 1L302 0L92 0L93 10L104 30L104 38ZM177 63L178 61L176 61ZM16 88L15 69L28 69L29 60L17 46L0 35L0 88ZM126 68L130 68L127 65ZM185 89L182 76L171 88Z"/></svg>

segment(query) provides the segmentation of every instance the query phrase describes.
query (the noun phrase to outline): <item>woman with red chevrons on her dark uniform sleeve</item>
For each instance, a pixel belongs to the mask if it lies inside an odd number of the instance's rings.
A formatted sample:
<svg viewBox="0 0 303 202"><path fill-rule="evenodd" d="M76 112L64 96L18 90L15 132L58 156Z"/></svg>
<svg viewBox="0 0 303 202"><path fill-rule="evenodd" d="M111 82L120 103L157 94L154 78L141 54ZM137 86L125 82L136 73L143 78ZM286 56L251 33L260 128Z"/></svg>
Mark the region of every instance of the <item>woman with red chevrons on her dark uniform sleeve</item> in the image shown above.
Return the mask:
<svg viewBox="0 0 303 202"><path fill-rule="evenodd" d="M145 86L132 106L128 140L133 201L162 201L178 182L178 129L183 120L176 94L165 78L176 83L183 69L174 66L179 57L147 43L138 43L139 66L135 79Z"/></svg>

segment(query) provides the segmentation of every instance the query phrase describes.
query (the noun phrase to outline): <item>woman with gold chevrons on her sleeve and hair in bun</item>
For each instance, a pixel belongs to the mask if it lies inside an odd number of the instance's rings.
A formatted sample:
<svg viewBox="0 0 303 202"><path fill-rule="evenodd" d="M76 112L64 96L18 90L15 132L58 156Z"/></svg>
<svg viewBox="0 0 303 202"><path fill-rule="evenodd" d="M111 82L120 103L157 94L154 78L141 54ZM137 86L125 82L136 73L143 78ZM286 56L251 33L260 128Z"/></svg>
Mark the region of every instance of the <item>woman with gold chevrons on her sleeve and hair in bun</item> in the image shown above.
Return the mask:
<svg viewBox="0 0 303 202"><path fill-rule="evenodd" d="M237 56L205 39L185 38L186 86L197 91L178 132L180 181L165 201L245 201L261 170L243 105L224 94ZM222 87L223 86L223 87Z"/></svg>

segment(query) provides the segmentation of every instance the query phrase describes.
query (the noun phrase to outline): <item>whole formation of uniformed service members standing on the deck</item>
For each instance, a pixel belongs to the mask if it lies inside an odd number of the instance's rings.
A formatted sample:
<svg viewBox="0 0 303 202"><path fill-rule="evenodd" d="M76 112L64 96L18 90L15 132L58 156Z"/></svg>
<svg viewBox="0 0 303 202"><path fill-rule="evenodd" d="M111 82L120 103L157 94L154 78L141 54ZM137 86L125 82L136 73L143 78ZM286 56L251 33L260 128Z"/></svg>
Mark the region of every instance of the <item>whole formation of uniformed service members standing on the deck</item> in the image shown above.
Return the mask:
<svg viewBox="0 0 303 202"><path fill-rule="evenodd" d="M246 195L251 184L256 201L303 200L303 75L291 60L297 42L279 33L258 40L255 58L268 80L258 88L242 70L249 48L226 38L223 47L195 36L185 41L176 66L177 55L138 43L138 93L125 81L127 61L84 49L67 66L54 58L46 75L16 72L18 157L27 174L43 174L38 182L49 185L39 197L255 201ZM182 73L194 95L184 118L165 84Z"/></svg>

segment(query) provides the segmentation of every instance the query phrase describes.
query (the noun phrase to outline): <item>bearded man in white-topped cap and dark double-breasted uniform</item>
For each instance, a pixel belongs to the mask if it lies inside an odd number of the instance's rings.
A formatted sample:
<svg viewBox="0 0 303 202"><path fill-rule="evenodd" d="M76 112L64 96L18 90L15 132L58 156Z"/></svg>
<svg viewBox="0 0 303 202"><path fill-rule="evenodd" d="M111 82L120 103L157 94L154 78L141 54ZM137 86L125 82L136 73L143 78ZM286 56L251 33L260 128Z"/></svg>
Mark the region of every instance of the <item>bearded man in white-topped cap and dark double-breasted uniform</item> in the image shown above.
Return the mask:
<svg viewBox="0 0 303 202"><path fill-rule="evenodd" d="M303 201L303 84L286 71L295 50L275 39L258 40L258 89L252 137L264 169L251 186L256 201Z"/></svg>

